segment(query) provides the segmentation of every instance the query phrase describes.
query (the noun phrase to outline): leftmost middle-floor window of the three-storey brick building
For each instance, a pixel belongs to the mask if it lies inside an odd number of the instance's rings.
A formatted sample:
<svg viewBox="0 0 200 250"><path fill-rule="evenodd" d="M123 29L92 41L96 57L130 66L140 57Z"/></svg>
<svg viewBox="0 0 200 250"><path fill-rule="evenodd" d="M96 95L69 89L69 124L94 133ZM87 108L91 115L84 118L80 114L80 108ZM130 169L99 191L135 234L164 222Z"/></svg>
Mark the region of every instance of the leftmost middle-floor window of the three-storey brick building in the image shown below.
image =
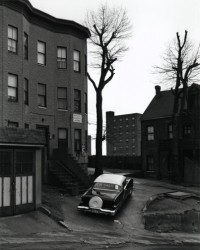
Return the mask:
<svg viewBox="0 0 200 250"><path fill-rule="evenodd" d="M16 102L18 100L18 77L8 74L8 100Z"/></svg>

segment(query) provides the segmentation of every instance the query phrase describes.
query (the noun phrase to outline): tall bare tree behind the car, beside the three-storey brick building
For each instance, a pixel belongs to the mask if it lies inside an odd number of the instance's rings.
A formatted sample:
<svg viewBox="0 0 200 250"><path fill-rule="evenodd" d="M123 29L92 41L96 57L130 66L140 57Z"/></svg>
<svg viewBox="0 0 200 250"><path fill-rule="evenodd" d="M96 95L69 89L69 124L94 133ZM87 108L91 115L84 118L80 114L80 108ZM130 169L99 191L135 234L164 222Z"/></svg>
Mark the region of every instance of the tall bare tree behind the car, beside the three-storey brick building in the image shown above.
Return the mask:
<svg viewBox="0 0 200 250"><path fill-rule="evenodd" d="M128 50L125 40L130 37L131 25L126 10L121 8L110 9L101 5L97 12L88 12L86 26L91 32L91 67L98 70L99 79L94 80L87 73L90 82L96 91L96 166L95 176L102 174L102 91L112 80L115 74L115 62Z"/></svg>

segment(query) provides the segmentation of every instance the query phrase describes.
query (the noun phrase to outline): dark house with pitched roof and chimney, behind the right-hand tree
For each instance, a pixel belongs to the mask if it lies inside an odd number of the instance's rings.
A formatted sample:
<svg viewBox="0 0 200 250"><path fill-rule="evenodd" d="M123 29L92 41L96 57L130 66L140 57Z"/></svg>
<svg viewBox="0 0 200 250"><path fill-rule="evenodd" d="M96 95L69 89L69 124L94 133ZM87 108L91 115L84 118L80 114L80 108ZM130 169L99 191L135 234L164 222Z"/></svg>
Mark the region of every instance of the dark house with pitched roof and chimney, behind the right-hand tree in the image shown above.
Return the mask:
<svg viewBox="0 0 200 250"><path fill-rule="evenodd" d="M146 177L171 179L173 103L171 90L156 95L141 117L142 166ZM200 85L188 88L187 109L179 131L181 174L186 183L200 183Z"/></svg>

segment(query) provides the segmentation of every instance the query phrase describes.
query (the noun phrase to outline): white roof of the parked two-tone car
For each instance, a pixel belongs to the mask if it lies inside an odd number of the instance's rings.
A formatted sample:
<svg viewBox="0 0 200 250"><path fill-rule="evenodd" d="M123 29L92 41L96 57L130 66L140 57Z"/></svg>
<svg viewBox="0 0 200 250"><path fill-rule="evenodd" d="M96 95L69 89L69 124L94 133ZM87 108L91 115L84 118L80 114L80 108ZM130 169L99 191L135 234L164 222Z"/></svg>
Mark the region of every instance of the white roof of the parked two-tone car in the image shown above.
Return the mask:
<svg viewBox="0 0 200 250"><path fill-rule="evenodd" d="M117 184L121 186L125 179L126 179L125 176L119 175L119 174L102 174L102 175L99 175L94 180L94 182Z"/></svg>

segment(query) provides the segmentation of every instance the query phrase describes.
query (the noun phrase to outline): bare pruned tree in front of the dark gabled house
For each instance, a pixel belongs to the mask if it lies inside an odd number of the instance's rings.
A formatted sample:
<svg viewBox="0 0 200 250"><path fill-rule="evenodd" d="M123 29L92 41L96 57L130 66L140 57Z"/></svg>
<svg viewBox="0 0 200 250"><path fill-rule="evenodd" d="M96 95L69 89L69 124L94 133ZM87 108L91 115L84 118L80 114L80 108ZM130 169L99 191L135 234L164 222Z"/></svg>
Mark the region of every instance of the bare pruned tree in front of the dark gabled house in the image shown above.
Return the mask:
<svg viewBox="0 0 200 250"><path fill-rule="evenodd" d="M181 166L180 143L182 139L182 118L187 114L188 86L199 80L200 63L199 49L188 41L188 32L184 39L176 33L176 40L163 57L164 63L156 67L157 73L163 75L166 83L173 84L171 88L174 95L173 104L173 148L172 148L172 180L182 181L183 166Z"/></svg>

